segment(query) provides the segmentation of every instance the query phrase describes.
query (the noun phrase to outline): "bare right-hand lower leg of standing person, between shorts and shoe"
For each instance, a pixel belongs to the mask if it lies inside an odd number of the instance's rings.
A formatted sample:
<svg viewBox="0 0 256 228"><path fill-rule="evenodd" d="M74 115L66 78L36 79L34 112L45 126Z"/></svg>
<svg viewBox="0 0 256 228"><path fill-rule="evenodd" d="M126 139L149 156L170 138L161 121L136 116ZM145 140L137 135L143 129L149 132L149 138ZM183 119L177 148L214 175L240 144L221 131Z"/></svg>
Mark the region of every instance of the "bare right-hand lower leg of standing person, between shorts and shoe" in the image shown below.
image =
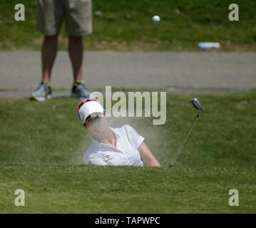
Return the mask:
<svg viewBox="0 0 256 228"><path fill-rule="evenodd" d="M83 38L81 36L68 36L68 54L72 63L74 83L82 81Z"/></svg>

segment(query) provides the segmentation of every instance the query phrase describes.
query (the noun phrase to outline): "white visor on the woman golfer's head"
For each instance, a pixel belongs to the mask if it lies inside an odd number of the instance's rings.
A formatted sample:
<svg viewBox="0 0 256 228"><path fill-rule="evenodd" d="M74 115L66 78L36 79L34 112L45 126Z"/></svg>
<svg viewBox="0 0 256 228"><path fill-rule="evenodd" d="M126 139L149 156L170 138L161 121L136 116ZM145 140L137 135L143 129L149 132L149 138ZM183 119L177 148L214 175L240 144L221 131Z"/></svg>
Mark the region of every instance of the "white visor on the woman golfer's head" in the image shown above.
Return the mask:
<svg viewBox="0 0 256 228"><path fill-rule="evenodd" d="M104 113L104 108L98 101L88 101L79 109L79 117L82 123L86 123L86 118L92 113Z"/></svg>

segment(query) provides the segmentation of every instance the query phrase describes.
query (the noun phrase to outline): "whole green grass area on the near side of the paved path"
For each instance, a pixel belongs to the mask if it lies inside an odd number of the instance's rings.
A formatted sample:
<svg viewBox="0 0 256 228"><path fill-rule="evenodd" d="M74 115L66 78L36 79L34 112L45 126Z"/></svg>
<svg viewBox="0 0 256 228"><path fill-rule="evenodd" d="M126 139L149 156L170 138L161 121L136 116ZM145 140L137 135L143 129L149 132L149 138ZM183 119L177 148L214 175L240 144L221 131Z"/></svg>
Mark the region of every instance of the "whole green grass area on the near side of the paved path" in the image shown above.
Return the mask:
<svg viewBox="0 0 256 228"><path fill-rule="evenodd" d="M190 98L168 95L165 125L110 120L143 135L160 168L83 165L91 135L78 100L0 99L0 213L255 213L256 91L199 95L204 110L170 170L195 118ZM19 188L25 207L14 205ZM239 207L228 204L232 188Z"/></svg>

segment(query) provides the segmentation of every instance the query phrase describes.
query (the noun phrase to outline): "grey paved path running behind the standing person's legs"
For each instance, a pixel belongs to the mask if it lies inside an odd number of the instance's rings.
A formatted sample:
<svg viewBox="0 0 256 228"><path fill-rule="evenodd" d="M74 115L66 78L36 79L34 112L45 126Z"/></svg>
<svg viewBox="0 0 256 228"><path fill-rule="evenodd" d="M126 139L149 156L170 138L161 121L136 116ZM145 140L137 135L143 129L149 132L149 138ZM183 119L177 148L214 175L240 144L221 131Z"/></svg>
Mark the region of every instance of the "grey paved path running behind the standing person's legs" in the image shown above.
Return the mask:
<svg viewBox="0 0 256 228"><path fill-rule="evenodd" d="M256 88L256 52L111 52L84 53L88 88L158 89L183 93ZM0 97L26 97L41 80L39 51L0 51ZM66 51L58 51L51 86L68 95L73 78ZM66 89L66 90L61 90ZM215 90L216 89L216 90ZM208 90L205 90L206 92Z"/></svg>

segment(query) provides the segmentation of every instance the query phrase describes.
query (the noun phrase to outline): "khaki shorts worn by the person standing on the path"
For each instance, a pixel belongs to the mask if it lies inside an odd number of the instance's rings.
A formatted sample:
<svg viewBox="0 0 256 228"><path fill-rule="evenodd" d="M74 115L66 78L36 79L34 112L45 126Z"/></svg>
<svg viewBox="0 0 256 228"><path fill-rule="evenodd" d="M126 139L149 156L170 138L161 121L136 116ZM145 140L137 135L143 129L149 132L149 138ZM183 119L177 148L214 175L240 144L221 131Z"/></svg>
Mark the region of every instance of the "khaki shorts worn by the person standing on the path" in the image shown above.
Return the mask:
<svg viewBox="0 0 256 228"><path fill-rule="evenodd" d="M36 28L47 36L58 35L63 20L69 36L92 33L91 0L38 0Z"/></svg>

